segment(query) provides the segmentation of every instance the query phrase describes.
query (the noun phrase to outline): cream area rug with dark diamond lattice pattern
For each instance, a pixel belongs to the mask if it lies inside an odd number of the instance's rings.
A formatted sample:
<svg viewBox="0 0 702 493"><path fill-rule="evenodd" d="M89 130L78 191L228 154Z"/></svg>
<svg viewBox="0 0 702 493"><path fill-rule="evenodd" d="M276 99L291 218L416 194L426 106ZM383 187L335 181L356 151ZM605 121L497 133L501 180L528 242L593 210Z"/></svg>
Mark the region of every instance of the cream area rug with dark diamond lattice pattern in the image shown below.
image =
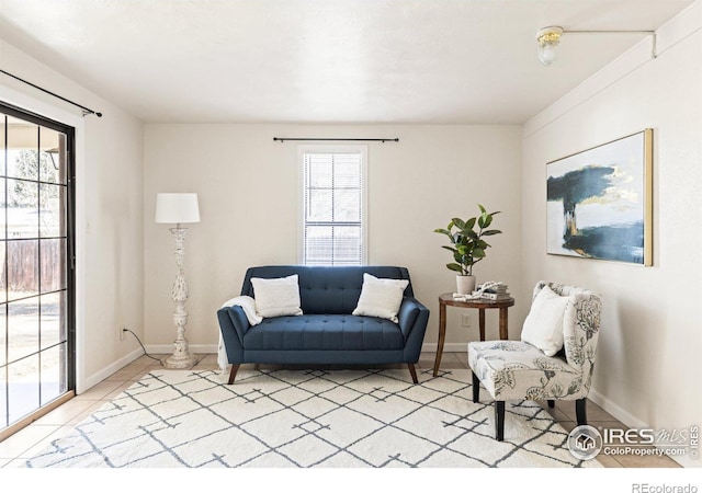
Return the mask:
<svg viewBox="0 0 702 493"><path fill-rule="evenodd" d="M474 404L468 369L154 370L29 468L598 468L537 403Z"/></svg>

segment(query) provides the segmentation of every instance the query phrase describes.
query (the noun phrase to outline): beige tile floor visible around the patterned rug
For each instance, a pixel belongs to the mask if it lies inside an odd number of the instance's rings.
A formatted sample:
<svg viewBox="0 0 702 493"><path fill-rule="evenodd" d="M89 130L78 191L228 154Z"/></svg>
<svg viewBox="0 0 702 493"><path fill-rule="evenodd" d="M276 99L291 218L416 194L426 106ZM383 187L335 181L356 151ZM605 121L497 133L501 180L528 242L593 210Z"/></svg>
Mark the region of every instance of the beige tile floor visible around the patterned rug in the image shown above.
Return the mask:
<svg viewBox="0 0 702 493"><path fill-rule="evenodd" d="M31 425L0 442L0 468L15 468L24 460L44 449L52 440L68 433L93 411L113 399L122 390L129 387L149 370L160 367L158 357L162 355L141 356L134 363L114 372L109 378L92 387L87 392L75 397L70 401L42 416ZM418 367L430 369L433 367L434 353L422 353ZM464 353L444 353L441 367L467 368L467 355ZM202 355L196 369L217 369L217 356ZM576 426L575 405L570 402L556 402L554 409L544 408L567 431ZM612 417L593 402L588 402L588 424L602 428L623 428L625 426ZM680 466L667 457L641 456L598 456L602 466L608 468L679 468Z"/></svg>

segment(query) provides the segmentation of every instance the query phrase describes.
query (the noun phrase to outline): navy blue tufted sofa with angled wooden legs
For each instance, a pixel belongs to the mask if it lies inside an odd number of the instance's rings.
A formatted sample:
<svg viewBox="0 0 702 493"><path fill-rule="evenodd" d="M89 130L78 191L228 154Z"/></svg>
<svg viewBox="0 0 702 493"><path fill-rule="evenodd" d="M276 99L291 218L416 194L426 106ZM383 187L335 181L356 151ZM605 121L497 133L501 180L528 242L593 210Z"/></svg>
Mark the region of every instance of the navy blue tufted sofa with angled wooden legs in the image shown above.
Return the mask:
<svg viewBox="0 0 702 493"><path fill-rule="evenodd" d="M359 317L356 307L363 273L380 278L408 279L405 267L393 266L260 266L250 267L241 296L253 297L252 277L298 275L302 316L263 319L251 326L239 306L222 308L217 319L234 383L242 363L298 365L381 365L406 363L417 383L415 364L427 330L429 310L412 293L404 293L398 323Z"/></svg>

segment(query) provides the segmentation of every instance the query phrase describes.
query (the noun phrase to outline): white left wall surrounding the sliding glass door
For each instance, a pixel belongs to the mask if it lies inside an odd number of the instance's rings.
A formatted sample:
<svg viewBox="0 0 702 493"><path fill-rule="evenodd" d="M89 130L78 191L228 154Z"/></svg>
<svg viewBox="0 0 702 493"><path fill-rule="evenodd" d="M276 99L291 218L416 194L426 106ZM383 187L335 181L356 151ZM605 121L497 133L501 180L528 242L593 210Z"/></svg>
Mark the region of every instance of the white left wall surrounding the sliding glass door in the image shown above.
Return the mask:
<svg viewBox="0 0 702 493"><path fill-rule="evenodd" d="M134 117L0 41L2 69L103 113L81 112L0 76L0 100L76 127L77 389L120 369L144 336L143 126Z"/></svg>

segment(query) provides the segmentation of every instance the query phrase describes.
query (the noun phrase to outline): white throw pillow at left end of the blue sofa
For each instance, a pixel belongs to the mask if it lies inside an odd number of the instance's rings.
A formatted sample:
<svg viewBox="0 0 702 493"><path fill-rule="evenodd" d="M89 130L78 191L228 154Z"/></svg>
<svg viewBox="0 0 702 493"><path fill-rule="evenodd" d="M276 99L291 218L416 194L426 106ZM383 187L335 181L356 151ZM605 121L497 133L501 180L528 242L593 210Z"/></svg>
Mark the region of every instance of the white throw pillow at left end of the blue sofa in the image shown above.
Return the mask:
<svg viewBox="0 0 702 493"><path fill-rule="evenodd" d="M251 277L256 312L263 318L303 314L297 274L264 279Z"/></svg>

